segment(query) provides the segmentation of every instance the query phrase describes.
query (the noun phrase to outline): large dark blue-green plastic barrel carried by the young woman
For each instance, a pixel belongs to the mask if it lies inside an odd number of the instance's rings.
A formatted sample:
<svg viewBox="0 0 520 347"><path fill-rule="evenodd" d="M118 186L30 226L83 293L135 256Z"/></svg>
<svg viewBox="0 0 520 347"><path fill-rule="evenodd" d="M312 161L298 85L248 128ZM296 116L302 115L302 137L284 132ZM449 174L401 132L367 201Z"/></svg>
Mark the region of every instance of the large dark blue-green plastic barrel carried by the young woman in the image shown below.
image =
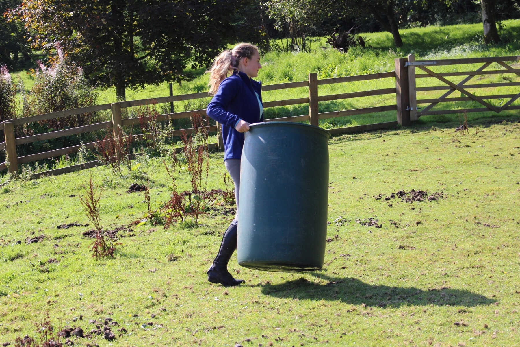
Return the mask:
<svg viewBox="0 0 520 347"><path fill-rule="evenodd" d="M263 271L315 271L327 243L330 134L292 122L245 133L237 259Z"/></svg>

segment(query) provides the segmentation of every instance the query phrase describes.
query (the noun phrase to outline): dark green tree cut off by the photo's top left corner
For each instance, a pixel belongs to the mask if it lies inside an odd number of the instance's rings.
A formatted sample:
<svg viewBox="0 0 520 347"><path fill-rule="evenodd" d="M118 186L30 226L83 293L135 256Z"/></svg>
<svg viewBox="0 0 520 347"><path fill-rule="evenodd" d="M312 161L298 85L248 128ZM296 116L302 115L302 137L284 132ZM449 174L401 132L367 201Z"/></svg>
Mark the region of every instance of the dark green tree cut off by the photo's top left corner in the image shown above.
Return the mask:
<svg viewBox="0 0 520 347"><path fill-rule="evenodd" d="M20 5L20 0L0 0L0 14L4 14L10 8ZM0 18L0 65L14 68L18 64L20 54L26 60L30 59L30 48L24 38L25 30L21 23L8 22L7 18Z"/></svg>

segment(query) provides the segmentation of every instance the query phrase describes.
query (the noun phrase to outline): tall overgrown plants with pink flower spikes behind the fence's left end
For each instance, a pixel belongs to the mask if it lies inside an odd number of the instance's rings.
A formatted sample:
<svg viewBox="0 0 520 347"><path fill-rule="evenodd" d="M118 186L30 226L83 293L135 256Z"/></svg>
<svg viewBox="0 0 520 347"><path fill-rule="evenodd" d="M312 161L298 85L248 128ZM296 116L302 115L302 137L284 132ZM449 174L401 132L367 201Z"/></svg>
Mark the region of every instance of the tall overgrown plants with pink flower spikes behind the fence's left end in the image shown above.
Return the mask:
<svg viewBox="0 0 520 347"><path fill-rule="evenodd" d="M32 86L24 86L20 78L15 78L14 81L11 82L11 85L13 82L16 83L17 97L6 99L7 102L5 102L5 104L2 102L3 108L11 110L8 117L9 119L30 117L37 114L97 104L98 92L89 84L83 74L83 70L76 66L74 62L70 61L68 57L63 55L59 45L56 46L56 51L57 56L50 60L49 66L45 66L44 63L38 61L37 68L31 69L28 72L34 81ZM9 73L6 72L4 76L8 74ZM4 78L5 81L7 81L7 79L7 77ZM7 83L3 85L3 88L6 89ZM29 89L26 90L26 88ZM96 115L95 112L88 112L42 120L37 123L16 126L15 135L16 137L24 137L88 125L95 123L97 117L98 115ZM96 136L96 133L85 133L36 141L18 146L17 153L18 156L23 156L35 152L44 152L79 145L82 142L90 142L90 140Z"/></svg>

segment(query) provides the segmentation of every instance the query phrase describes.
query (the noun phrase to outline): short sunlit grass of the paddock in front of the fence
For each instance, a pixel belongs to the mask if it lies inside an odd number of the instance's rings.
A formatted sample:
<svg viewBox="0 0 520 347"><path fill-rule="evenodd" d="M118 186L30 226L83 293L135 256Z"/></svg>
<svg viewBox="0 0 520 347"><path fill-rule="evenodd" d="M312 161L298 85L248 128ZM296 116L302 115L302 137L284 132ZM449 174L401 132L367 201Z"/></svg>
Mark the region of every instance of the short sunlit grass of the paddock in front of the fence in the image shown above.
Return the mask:
<svg viewBox="0 0 520 347"><path fill-rule="evenodd" d="M102 225L139 219L144 196L125 190L146 172L152 204L166 200L160 159L124 179L99 167L11 181L0 187L0 342L35 336L48 312L56 328L87 333L89 319L112 317L127 330L75 345L517 345L519 122L510 112L474 120L467 133L454 132L458 122L417 123L332 138L323 270L259 272L233 256L231 271L246 280L236 288L205 280L230 215L193 229L133 227L101 261L82 236L88 226L57 229L88 223L79 196L90 174L103 186ZM211 155L209 189L223 188L222 155ZM176 176L186 189L188 176ZM444 198L391 198L401 189ZM381 227L359 223L369 218Z"/></svg>

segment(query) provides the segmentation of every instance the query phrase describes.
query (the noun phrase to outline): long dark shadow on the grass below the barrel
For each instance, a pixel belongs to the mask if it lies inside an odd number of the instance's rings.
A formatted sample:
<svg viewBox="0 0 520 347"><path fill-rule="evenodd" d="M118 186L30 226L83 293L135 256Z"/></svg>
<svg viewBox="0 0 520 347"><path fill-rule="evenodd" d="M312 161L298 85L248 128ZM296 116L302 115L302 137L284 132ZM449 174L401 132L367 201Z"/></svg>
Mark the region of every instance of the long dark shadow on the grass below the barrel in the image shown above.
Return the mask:
<svg viewBox="0 0 520 347"><path fill-rule="evenodd" d="M317 284L305 278L287 281L279 285L262 285L262 293L276 298L331 300L344 303L379 307L411 305L479 306L490 305L496 300L466 290L446 287L422 290L415 287L391 287L371 285L357 278L329 277L313 273L327 284Z"/></svg>

